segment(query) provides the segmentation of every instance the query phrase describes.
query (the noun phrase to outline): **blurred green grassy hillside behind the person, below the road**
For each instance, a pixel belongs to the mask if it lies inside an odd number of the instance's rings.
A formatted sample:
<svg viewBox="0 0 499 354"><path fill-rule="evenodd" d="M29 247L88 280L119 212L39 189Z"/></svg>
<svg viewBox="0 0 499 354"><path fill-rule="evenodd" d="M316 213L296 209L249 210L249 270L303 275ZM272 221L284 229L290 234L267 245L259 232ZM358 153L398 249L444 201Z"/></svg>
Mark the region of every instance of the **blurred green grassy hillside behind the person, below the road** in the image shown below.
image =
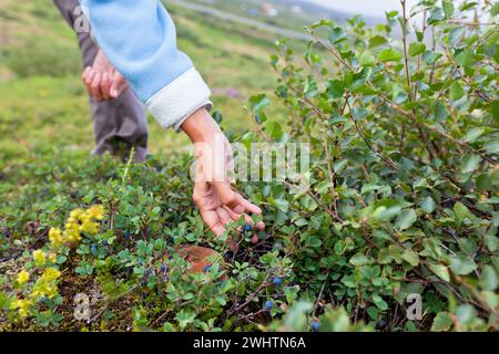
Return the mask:
<svg viewBox="0 0 499 354"><path fill-rule="evenodd" d="M216 110L224 115L223 126L252 128L244 106L248 96L271 93L274 87L268 58L278 35L174 3L169 3L169 10L177 25L179 46L212 87ZM295 41L294 45L304 43ZM80 74L75 35L52 2L0 0L1 164L54 147L91 150L92 125ZM150 121L153 153L186 143L182 134L165 132Z"/></svg>

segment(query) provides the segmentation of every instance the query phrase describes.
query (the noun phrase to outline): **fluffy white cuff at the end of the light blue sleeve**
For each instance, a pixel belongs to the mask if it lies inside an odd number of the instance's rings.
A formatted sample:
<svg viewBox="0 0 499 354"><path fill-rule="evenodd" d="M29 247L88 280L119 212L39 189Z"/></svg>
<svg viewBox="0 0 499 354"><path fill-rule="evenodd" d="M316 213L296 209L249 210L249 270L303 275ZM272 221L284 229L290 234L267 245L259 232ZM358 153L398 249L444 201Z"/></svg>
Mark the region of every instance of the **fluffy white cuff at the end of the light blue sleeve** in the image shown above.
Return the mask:
<svg viewBox="0 0 499 354"><path fill-rule="evenodd" d="M212 110L211 94L200 73L191 69L149 98L145 107L161 126L167 128L173 125L179 131L197 110Z"/></svg>

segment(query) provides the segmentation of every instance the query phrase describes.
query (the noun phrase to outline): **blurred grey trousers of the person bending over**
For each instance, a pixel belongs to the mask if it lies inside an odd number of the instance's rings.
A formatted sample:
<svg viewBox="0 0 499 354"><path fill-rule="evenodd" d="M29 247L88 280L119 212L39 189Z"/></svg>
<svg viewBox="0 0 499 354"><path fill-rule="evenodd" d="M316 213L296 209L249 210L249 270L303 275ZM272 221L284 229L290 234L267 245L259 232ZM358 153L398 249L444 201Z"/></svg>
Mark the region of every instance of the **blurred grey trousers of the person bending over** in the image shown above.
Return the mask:
<svg viewBox="0 0 499 354"><path fill-rule="evenodd" d="M79 0L53 0L65 21L74 28ZM79 12L77 12L79 13ZM89 32L77 33L82 52L83 67L91 66L99 51ZM93 116L95 148L93 155L106 152L126 159L132 147L134 160L144 162L147 155L147 121L142 102L131 88L113 101L98 102L89 96Z"/></svg>

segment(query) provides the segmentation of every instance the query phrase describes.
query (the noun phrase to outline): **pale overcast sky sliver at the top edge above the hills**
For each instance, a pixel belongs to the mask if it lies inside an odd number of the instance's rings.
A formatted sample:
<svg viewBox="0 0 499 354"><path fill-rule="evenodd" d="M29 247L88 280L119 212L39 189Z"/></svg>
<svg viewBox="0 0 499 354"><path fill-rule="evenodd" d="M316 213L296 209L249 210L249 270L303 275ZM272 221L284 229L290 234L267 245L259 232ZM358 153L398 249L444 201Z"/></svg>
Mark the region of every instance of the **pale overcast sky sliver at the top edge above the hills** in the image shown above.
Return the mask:
<svg viewBox="0 0 499 354"><path fill-rule="evenodd" d="M306 0L353 14L383 17L387 10L400 10L399 0ZM407 0L409 8L418 0Z"/></svg>

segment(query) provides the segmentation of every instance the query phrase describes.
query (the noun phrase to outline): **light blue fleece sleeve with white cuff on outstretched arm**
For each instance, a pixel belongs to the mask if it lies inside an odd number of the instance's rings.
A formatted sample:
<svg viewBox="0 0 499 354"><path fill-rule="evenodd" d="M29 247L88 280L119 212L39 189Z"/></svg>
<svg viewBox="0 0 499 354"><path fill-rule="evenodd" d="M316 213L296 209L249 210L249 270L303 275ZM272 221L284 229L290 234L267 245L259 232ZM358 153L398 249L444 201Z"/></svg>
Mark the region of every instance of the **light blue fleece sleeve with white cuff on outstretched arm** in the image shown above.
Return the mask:
<svg viewBox="0 0 499 354"><path fill-rule="evenodd" d="M210 88L176 45L159 0L81 0L92 34L111 63L164 127L211 107Z"/></svg>

